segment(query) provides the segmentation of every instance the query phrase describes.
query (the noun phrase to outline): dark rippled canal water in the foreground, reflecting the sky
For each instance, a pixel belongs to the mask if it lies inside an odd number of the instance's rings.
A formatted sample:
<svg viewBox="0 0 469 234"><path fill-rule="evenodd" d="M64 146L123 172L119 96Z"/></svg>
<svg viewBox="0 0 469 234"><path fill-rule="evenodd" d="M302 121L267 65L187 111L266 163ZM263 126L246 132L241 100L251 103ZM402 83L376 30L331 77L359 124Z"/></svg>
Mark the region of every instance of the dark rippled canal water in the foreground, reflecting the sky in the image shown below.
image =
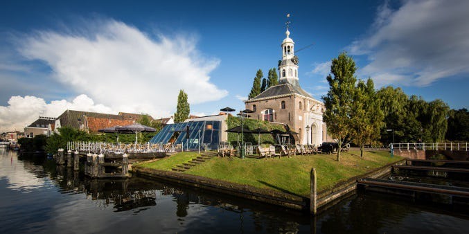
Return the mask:
<svg viewBox="0 0 469 234"><path fill-rule="evenodd" d="M92 180L0 150L0 233L466 233L468 210L358 194L312 218L139 177Z"/></svg>

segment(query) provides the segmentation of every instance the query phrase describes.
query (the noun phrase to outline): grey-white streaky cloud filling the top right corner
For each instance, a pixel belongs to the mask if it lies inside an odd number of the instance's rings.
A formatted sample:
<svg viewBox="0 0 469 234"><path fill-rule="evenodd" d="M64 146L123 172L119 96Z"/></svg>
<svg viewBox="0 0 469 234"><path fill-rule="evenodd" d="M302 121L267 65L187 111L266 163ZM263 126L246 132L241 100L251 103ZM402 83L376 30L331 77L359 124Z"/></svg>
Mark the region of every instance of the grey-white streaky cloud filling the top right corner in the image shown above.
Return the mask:
<svg viewBox="0 0 469 234"><path fill-rule="evenodd" d="M469 73L469 1L403 1L397 10L378 8L371 33L348 46L366 55L359 76L377 86L425 86Z"/></svg>

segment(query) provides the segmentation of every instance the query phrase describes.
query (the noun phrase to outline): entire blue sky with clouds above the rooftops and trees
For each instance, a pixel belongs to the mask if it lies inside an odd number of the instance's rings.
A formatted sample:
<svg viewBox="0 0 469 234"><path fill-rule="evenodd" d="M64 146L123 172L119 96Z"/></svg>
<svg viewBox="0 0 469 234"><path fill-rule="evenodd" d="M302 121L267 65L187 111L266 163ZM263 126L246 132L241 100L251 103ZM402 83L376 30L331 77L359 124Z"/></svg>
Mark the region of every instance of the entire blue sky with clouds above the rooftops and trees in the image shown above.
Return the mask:
<svg viewBox="0 0 469 234"><path fill-rule="evenodd" d="M468 108L467 9L465 0L1 1L0 132L67 109L165 118L180 89L194 115L245 109L256 71L267 77L281 60L287 20L299 82L317 100L345 51L377 89Z"/></svg>

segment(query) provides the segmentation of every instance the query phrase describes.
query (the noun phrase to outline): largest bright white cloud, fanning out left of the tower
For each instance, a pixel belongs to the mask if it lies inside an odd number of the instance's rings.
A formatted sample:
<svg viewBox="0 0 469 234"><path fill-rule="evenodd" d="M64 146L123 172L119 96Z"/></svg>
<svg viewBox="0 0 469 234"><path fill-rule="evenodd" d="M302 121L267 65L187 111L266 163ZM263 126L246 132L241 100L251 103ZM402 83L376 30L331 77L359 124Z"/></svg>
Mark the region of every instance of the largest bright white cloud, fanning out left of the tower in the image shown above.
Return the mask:
<svg viewBox="0 0 469 234"><path fill-rule="evenodd" d="M73 30L78 34L37 32L19 51L45 62L57 82L114 111L170 116L179 89L191 104L227 96L209 82L220 61L200 55L195 39L159 35L154 40L118 21L89 23L98 26Z"/></svg>

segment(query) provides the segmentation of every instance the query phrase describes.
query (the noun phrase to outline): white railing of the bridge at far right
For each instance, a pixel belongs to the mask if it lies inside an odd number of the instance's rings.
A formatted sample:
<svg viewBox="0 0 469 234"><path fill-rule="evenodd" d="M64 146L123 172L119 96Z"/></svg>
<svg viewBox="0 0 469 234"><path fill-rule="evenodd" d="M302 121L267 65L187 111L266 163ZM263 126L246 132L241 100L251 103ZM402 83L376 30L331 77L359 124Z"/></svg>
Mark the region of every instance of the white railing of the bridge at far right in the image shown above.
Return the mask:
<svg viewBox="0 0 469 234"><path fill-rule="evenodd" d="M391 143L393 150L462 150L468 151L469 144L466 143Z"/></svg>

